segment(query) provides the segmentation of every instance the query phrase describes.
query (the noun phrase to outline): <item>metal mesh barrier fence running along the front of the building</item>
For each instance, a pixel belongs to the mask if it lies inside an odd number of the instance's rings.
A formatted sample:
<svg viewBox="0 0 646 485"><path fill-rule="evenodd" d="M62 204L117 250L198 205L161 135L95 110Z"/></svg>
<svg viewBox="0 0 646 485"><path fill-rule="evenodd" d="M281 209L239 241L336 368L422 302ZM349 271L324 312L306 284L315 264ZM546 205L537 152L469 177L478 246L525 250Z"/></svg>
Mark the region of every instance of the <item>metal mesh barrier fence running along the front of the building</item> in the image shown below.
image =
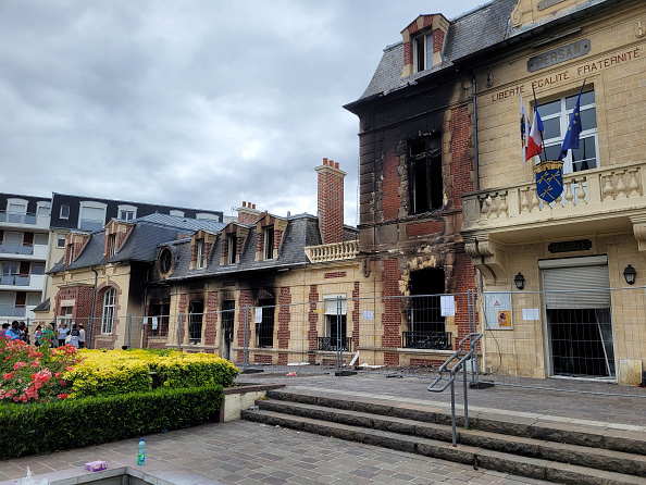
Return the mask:
<svg viewBox="0 0 646 485"><path fill-rule="evenodd" d="M646 397L638 387L646 357L644 287L334 296L305 303L289 298L281 294L281 304L261 299L258 307L225 300L219 311L186 302L188 311L175 315L62 316L59 323L83 324L89 347L213 352L245 371L360 370L430 381L457 341L480 332L464 365L472 381Z"/></svg>

